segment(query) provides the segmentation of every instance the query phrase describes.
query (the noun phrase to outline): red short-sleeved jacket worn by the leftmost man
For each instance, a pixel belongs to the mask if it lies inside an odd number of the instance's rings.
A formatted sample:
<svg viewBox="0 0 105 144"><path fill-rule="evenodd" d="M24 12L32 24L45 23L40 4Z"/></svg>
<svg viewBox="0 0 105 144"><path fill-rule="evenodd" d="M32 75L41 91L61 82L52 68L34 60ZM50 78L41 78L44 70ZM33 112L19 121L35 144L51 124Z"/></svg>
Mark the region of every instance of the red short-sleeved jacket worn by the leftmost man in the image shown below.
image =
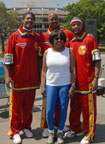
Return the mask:
<svg viewBox="0 0 105 144"><path fill-rule="evenodd" d="M13 90L30 90L39 87L38 42L39 34L26 32L22 26L10 35L4 64L10 64Z"/></svg>

